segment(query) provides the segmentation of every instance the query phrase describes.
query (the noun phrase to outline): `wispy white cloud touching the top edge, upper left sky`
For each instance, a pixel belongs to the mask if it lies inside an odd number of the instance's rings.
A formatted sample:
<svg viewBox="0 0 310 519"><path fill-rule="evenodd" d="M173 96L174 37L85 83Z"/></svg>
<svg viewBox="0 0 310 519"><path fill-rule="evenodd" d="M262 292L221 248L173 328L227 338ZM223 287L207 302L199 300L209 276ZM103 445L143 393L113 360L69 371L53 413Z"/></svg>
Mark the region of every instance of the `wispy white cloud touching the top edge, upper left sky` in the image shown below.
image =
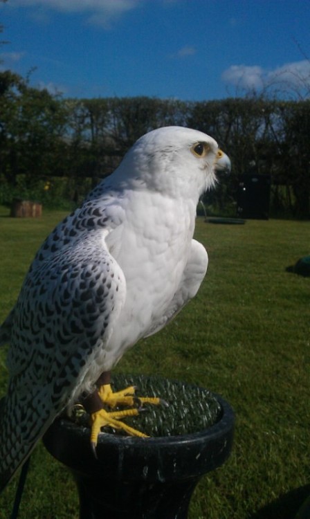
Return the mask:
<svg viewBox="0 0 310 519"><path fill-rule="evenodd" d="M14 6L34 8L33 14L39 12L40 16L42 10L77 12L86 15L87 21L91 24L108 27L113 19L136 8L138 0L15 0Z"/></svg>

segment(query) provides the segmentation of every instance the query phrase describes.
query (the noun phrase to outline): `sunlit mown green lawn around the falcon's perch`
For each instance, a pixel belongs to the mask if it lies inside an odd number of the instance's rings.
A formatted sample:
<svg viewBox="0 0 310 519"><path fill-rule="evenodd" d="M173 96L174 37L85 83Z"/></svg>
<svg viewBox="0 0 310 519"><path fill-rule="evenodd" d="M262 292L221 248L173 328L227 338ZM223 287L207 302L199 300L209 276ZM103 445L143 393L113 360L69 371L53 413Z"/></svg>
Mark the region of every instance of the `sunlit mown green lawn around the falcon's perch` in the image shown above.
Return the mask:
<svg viewBox="0 0 310 519"><path fill-rule="evenodd" d="M0 210L0 318L15 302L44 237L64 217L11 219ZM235 410L230 458L202 478L190 519L293 519L310 493L310 278L285 267L309 255L310 223L197 220L206 280L172 324L127 353L118 372L158 374L221 394ZM6 388L5 353L0 390ZM78 453L77 453L78 455ZM9 516L17 478L0 496ZM20 519L78 519L75 485L37 446Z"/></svg>

